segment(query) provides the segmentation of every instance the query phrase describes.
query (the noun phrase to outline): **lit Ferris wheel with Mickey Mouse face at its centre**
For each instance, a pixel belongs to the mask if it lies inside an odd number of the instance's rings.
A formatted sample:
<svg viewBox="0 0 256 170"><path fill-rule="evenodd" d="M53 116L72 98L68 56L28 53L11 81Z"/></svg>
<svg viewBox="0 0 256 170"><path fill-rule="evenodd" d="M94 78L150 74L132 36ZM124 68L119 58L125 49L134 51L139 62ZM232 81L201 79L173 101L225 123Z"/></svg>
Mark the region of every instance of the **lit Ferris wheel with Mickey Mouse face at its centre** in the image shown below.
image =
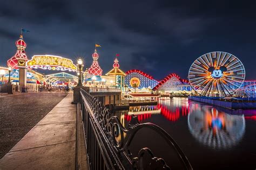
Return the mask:
<svg viewBox="0 0 256 170"><path fill-rule="evenodd" d="M203 96L232 96L244 83L245 67L230 53L209 52L194 61L188 79L192 88Z"/></svg>

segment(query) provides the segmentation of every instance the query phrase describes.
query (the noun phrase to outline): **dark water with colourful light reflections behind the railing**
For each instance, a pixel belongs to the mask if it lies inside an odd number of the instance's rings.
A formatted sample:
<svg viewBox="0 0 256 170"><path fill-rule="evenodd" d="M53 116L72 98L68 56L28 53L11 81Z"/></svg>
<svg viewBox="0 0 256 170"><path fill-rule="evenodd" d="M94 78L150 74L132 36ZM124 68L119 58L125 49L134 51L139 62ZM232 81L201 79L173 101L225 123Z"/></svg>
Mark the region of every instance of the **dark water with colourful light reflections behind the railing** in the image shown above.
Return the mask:
<svg viewBox="0 0 256 170"><path fill-rule="evenodd" d="M134 114L140 123L163 128L194 169L256 168L256 110L232 111L173 97L160 98L155 106L133 106L114 114L125 127ZM132 141L131 152L136 155L143 147L151 148L172 169L180 169L173 148L159 134L150 129L139 131Z"/></svg>

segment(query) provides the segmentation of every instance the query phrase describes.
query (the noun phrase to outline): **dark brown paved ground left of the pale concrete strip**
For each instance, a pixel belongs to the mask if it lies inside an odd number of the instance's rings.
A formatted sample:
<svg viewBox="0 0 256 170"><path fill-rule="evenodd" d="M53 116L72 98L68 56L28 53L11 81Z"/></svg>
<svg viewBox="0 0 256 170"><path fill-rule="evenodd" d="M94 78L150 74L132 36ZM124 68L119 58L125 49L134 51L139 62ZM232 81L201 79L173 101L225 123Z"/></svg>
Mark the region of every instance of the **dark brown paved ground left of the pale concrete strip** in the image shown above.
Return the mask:
<svg viewBox="0 0 256 170"><path fill-rule="evenodd" d="M66 93L0 93L0 158L65 96Z"/></svg>

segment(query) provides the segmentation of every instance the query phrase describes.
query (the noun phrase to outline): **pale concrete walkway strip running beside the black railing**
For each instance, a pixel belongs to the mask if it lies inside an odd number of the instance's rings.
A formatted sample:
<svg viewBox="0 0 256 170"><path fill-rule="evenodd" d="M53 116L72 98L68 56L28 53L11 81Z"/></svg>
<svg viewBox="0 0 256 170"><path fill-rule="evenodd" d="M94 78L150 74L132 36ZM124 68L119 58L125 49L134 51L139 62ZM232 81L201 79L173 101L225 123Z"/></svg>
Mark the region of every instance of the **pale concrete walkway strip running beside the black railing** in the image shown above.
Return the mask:
<svg viewBox="0 0 256 170"><path fill-rule="evenodd" d="M75 169L76 105L70 93L0 160L0 169Z"/></svg>

